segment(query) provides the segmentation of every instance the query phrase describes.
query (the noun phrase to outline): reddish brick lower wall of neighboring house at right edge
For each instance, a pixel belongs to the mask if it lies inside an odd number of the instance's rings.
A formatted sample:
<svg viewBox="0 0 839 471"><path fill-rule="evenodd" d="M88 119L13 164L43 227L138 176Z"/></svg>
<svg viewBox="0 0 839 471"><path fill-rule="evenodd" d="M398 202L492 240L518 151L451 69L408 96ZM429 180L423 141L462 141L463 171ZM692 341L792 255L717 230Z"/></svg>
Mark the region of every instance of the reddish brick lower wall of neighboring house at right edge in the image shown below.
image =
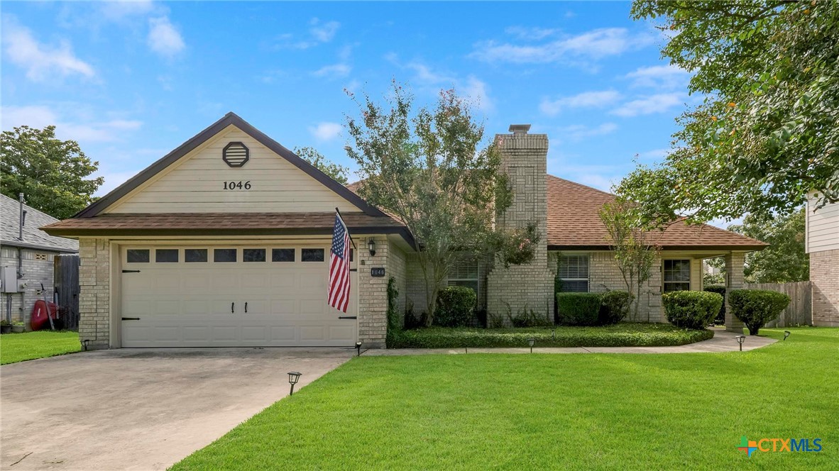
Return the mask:
<svg viewBox="0 0 839 471"><path fill-rule="evenodd" d="M839 249L810 252L813 325L839 327Z"/></svg>

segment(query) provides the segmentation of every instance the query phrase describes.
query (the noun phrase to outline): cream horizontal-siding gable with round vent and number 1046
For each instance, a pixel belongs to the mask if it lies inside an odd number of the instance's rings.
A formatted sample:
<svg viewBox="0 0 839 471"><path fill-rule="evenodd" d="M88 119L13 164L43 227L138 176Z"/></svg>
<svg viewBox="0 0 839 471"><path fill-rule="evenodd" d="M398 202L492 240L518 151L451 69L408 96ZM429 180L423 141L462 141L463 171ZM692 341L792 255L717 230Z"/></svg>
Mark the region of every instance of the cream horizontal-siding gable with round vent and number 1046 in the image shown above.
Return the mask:
<svg viewBox="0 0 839 471"><path fill-rule="evenodd" d="M230 167L221 158L230 142L248 147L248 162L242 167ZM359 210L246 132L228 126L104 212L290 213L336 207Z"/></svg>

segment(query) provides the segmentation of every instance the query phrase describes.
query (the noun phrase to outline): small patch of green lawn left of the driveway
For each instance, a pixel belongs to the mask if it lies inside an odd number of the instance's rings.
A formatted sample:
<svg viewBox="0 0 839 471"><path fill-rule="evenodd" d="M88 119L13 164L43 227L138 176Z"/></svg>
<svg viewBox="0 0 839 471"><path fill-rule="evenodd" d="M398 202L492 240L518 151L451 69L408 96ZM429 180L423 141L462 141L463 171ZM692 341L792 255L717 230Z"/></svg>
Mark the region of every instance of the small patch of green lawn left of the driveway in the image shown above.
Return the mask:
<svg viewBox="0 0 839 471"><path fill-rule="evenodd" d="M81 350L79 334L70 331L39 330L0 335L0 365L64 355Z"/></svg>

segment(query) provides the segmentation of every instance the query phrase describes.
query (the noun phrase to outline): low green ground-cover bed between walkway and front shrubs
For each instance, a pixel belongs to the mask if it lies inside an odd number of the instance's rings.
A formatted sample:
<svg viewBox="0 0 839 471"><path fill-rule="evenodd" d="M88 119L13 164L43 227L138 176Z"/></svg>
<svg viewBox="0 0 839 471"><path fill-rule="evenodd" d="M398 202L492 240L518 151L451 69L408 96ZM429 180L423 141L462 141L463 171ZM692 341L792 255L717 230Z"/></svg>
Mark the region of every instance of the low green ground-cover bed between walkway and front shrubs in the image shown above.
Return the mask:
<svg viewBox="0 0 839 471"><path fill-rule="evenodd" d="M711 330L679 329L670 323L617 323L602 327L556 326L530 329L430 327L388 335L391 349L527 347L661 347L711 339Z"/></svg>

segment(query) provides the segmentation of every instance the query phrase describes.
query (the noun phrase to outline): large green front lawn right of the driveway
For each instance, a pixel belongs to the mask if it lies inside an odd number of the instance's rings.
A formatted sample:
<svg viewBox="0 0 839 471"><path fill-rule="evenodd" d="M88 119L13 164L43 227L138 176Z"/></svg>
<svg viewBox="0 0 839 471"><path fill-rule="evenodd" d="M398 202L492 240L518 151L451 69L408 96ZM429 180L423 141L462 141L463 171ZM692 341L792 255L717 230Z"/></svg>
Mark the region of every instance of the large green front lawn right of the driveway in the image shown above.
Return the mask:
<svg viewBox="0 0 839 471"><path fill-rule="evenodd" d="M835 469L839 329L789 330L743 353L362 355L173 468ZM743 435L823 450L747 458Z"/></svg>

